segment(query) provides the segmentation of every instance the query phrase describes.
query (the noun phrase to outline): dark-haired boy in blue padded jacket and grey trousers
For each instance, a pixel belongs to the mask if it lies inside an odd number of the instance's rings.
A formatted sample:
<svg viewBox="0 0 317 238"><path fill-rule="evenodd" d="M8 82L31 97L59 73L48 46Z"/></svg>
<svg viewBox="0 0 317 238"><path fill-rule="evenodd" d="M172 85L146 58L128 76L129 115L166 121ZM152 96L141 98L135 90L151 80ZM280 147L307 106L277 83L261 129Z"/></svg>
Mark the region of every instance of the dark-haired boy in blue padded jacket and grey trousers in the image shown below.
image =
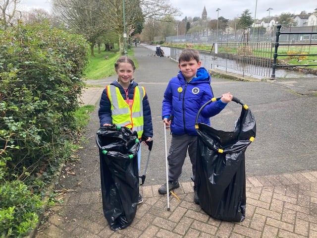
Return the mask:
<svg viewBox="0 0 317 238"><path fill-rule="evenodd" d="M166 126L170 126L172 139L168 153L168 186L169 190L179 187L178 178L188 150L192 163L195 182L197 132L195 120L199 109L213 97L211 77L208 71L201 67L199 52L185 49L178 58L180 71L173 77L164 92L162 103L162 119ZM230 93L223 94L220 100L212 102L201 112L198 122L210 125L210 117L221 112L232 100ZM173 116L172 120L168 118ZM166 194L166 183L159 187L160 194ZM199 204L196 185L194 185L194 202Z"/></svg>

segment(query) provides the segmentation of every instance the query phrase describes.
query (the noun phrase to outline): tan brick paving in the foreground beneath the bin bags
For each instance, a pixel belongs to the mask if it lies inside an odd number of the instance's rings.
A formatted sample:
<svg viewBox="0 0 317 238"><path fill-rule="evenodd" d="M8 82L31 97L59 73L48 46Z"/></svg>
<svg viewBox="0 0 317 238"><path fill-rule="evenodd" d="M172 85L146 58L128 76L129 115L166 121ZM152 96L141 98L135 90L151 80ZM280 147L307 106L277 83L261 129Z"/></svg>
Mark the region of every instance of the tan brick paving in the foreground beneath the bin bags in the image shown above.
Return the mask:
<svg viewBox="0 0 317 238"><path fill-rule="evenodd" d="M158 193L159 185L141 186L144 202L133 223L112 231L103 214L101 192L67 193L53 207L49 226L37 238L316 238L317 172L249 177L246 179L246 219L219 221L193 202L193 183L175 189L178 201ZM91 213L71 217L73 209Z"/></svg>

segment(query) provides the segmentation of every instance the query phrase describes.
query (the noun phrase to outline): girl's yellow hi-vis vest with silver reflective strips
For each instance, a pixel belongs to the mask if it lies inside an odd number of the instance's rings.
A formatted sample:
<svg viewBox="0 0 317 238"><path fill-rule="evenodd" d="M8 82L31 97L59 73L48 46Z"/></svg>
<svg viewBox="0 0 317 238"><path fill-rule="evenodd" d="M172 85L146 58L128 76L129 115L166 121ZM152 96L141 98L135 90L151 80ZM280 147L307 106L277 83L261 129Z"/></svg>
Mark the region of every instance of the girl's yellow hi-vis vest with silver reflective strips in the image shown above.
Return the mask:
<svg viewBox="0 0 317 238"><path fill-rule="evenodd" d="M125 126L133 131L137 131L141 138L144 129L143 119L143 98L145 96L144 87L137 86L134 89L132 107L122 97L118 87L114 85L106 86L108 99L111 103L112 123Z"/></svg>

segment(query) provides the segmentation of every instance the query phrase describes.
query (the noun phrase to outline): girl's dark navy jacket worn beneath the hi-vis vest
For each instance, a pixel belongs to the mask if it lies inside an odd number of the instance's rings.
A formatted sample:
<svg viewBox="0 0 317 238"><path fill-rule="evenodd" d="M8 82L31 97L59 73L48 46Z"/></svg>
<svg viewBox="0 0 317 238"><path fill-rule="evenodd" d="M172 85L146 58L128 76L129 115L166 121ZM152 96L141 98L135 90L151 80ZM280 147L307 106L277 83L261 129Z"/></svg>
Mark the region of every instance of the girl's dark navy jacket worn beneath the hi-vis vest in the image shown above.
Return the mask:
<svg viewBox="0 0 317 238"><path fill-rule="evenodd" d="M124 100L126 100L126 94L124 89L117 81L113 81L111 85L114 85L120 89L120 93ZM129 98L133 98L134 95L134 88L138 86L138 83L132 81L129 88L128 88L128 96ZM101 100L100 100L100 108L99 108L99 119L100 119L100 126L103 126L105 123L112 123L111 118L111 104L107 96L107 91L104 89ZM144 131L143 135L146 137L153 137L153 126L152 126L152 116L151 116L151 109L148 100L148 95L145 94L143 98L143 118L144 118Z"/></svg>

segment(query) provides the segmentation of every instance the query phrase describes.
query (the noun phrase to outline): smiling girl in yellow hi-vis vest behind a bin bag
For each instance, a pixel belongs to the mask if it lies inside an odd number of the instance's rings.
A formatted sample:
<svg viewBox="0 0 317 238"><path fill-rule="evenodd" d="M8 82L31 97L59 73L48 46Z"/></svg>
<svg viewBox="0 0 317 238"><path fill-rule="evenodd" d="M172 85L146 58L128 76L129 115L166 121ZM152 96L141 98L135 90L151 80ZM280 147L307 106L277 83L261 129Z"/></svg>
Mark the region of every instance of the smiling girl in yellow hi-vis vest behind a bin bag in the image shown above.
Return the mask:
<svg viewBox="0 0 317 238"><path fill-rule="evenodd" d="M151 108L145 88L134 81L135 64L127 56L121 56L114 63L117 80L104 89L99 108L100 126L116 124L137 131L141 140L151 141L153 125ZM145 141L144 141L144 144ZM141 149L138 151L138 169L140 170ZM138 204L143 202L139 193Z"/></svg>

